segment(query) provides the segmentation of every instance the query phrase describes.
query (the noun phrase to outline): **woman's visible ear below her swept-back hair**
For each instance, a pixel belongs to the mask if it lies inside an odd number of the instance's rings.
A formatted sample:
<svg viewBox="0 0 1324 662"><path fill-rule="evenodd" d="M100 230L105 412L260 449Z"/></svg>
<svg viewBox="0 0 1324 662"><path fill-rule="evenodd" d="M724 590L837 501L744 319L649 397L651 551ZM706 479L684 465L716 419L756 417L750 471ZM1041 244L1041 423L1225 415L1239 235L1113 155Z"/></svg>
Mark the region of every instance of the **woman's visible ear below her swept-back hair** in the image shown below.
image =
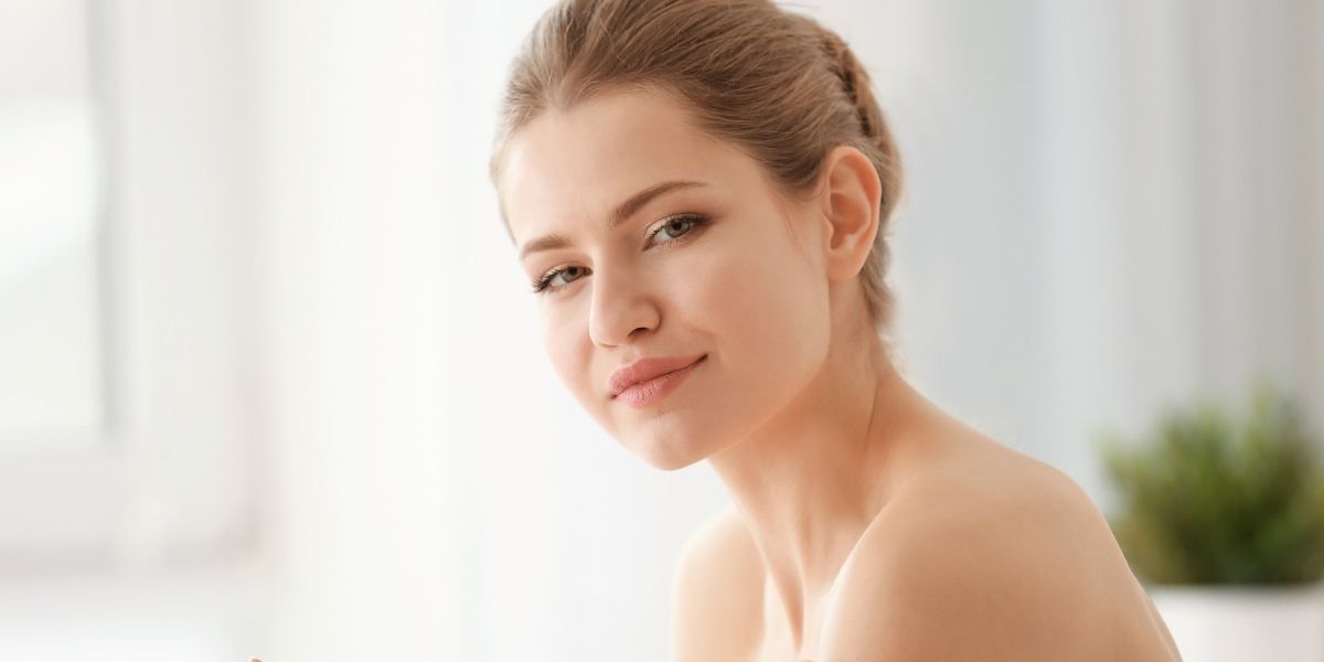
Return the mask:
<svg viewBox="0 0 1324 662"><path fill-rule="evenodd" d="M849 281L865 266L874 248L883 183L869 156L847 146L828 152L821 176L828 278Z"/></svg>

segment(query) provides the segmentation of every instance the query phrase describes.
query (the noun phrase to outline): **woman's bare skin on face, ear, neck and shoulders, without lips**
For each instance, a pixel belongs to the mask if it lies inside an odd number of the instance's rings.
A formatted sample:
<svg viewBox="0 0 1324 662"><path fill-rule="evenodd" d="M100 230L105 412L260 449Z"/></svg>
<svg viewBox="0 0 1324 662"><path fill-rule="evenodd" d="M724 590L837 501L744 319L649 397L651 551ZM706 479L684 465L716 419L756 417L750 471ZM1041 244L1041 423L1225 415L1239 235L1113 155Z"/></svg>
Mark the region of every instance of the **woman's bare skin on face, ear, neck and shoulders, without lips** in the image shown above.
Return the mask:
<svg viewBox="0 0 1324 662"><path fill-rule="evenodd" d="M516 245L563 240L520 260L552 274L536 301L557 375L626 449L707 459L732 496L681 556L674 659L1180 659L1090 498L894 367L858 279L879 228L863 154L831 150L784 197L650 89L544 111L507 150ZM666 181L698 184L609 221ZM651 406L608 391L641 356L699 354Z"/></svg>

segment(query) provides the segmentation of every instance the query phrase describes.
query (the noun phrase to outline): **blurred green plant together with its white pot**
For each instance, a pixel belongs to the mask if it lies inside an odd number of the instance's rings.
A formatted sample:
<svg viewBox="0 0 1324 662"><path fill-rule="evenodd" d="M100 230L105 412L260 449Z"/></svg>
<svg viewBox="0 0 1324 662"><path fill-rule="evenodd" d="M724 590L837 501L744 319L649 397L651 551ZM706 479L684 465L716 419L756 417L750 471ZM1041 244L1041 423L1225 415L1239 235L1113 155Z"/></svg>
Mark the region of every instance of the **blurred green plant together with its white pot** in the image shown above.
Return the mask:
<svg viewBox="0 0 1324 662"><path fill-rule="evenodd" d="M1099 450L1108 523L1185 659L1324 661L1324 469L1288 399L1169 409Z"/></svg>

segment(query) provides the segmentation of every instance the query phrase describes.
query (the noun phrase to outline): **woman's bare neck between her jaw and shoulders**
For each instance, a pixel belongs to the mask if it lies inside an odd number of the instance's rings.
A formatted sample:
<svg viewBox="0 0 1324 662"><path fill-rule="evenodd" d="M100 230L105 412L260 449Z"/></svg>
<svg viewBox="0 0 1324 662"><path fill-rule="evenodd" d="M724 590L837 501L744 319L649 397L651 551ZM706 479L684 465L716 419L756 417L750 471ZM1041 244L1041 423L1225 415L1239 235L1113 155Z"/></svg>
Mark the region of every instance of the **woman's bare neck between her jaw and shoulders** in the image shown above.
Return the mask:
<svg viewBox="0 0 1324 662"><path fill-rule="evenodd" d="M810 609L886 504L902 432L923 410L871 330L833 344L794 401L710 458L753 534L797 647Z"/></svg>

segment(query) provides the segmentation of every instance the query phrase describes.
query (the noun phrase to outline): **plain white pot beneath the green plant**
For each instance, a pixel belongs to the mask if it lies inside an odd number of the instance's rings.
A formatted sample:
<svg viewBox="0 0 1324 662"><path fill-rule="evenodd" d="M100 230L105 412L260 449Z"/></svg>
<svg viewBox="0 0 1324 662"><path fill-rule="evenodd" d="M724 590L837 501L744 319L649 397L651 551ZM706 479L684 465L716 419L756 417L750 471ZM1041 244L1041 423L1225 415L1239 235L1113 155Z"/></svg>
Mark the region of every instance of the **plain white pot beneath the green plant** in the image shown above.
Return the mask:
<svg viewBox="0 0 1324 662"><path fill-rule="evenodd" d="M1185 662L1324 662L1324 583L1145 591Z"/></svg>

